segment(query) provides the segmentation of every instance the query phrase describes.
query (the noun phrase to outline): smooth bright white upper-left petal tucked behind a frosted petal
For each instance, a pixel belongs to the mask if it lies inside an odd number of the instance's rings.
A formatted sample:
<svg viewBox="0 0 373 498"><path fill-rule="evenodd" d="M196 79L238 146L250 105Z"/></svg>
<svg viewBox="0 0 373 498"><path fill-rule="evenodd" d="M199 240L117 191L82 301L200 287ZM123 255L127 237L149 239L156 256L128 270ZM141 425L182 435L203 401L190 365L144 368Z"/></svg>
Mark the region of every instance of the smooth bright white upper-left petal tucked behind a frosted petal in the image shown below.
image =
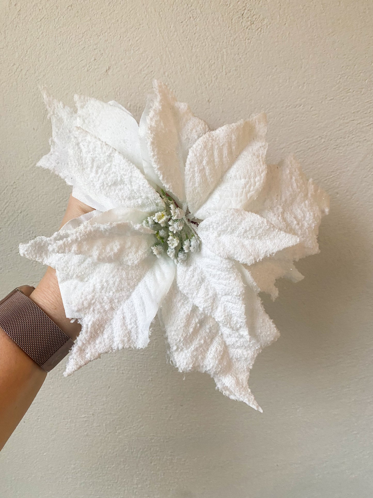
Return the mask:
<svg viewBox="0 0 373 498"><path fill-rule="evenodd" d="M117 102L100 102L75 96L77 125L111 145L143 172L139 126L135 118Z"/></svg>

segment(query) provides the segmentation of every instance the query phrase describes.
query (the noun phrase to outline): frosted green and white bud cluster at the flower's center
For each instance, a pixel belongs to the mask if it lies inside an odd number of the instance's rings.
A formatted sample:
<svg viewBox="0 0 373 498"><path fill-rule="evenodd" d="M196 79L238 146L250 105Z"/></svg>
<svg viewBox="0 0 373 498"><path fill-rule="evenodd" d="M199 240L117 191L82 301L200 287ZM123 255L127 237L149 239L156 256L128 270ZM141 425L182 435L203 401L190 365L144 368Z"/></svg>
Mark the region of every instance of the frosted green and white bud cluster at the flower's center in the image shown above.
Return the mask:
<svg viewBox="0 0 373 498"><path fill-rule="evenodd" d="M188 252L199 249L199 237L194 231L193 222L174 199L164 190L161 190L160 195L165 202L165 209L143 221L144 227L154 230L159 241L152 246L152 251L157 257L166 252L175 263L185 261Z"/></svg>

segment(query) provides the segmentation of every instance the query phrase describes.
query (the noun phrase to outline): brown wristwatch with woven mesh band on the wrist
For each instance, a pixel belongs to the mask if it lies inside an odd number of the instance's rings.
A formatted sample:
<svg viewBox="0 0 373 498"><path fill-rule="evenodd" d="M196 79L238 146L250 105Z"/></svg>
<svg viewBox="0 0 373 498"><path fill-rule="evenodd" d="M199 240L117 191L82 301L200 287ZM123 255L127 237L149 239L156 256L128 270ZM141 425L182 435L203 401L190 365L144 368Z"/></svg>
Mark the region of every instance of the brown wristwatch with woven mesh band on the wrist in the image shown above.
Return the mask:
<svg viewBox="0 0 373 498"><path fill-rule="evenodd" d="M29 298L33 290L22 285L0 301L0 327L40 368L50 372L74 342Z"/></svg>

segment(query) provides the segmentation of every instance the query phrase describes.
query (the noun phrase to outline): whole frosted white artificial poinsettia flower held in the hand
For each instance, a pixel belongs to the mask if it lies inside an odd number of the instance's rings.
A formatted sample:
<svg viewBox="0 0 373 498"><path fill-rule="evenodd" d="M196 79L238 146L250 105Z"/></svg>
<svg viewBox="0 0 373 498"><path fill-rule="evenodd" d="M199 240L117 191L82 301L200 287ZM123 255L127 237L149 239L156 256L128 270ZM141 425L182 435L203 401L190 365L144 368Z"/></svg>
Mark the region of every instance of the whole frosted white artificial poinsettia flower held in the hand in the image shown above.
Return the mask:
<svg viewBox="0 0 373 498"><path fill-rule="evenodd" d="M267 167L263 114L210 130L159 82L140 125L115 102L45 100L53 137L39 165L96 209L20 246L56 269L82 324L65 374L146 347L158 314L176 368L261 410L249 373L279 333L258 292L302 278L293 261L318 251L324 192L291 157Z"/></svg>

